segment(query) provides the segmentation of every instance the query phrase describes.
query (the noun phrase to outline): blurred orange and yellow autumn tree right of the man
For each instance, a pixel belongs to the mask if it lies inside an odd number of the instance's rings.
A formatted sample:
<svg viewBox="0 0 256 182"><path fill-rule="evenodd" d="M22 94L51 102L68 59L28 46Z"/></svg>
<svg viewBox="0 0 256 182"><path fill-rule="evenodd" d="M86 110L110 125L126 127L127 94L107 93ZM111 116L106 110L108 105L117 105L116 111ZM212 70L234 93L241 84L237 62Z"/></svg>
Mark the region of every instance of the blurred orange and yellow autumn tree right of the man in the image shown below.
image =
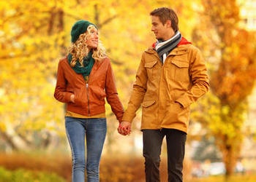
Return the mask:
<svg viewBox="0 0 256 182"><path fill-rule="evenodd" d="M211 92L203 98L203 111L209 116L200 121L208 128L208 135L214 135L228 177L240 157L244 136L249 135L243 129L247 100L255 87L255 33L239 24L237 1L203 0L202 4L204 25L194 32L193 38L211 60Z"/></svg>

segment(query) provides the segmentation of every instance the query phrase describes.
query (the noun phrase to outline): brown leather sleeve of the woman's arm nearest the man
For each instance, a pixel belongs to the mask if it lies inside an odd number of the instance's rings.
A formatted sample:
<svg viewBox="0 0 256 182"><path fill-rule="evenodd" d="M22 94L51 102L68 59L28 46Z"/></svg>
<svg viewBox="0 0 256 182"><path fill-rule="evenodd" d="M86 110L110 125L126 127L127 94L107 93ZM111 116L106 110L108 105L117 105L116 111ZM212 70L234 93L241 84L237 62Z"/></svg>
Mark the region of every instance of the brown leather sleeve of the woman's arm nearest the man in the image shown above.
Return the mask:
<svg viewBox="0 0 256 182"><path fill-rule="evenodd" d="M109 63L105 84L105 92L108 103L110 104L111 110L116 115L118 122L121 122L121 119L124 114L124 107L118 98L118 92L116 90L115 77L113 74L113 69Z"/></svg>

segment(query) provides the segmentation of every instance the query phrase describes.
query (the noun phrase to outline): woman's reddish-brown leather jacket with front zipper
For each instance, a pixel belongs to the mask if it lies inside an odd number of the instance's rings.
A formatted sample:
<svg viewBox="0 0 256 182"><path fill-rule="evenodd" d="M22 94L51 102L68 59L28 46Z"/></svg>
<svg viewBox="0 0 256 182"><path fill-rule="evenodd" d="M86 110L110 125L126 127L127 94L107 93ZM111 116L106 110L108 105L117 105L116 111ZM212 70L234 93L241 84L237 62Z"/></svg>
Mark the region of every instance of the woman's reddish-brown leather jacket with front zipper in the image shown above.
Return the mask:
<svg viewBox="0 0 256 182"><path fill-rule="evenodd" d="M72 94L75 95L75 103L70 101ZM105 113L105 98L107 98L119 122L124 114L108 58L94 63L88 83L85 82L82 74L75 73L69 66L67 57L59 60L54 97L62 103L67 103L67 111L84 116Z"/></svg>

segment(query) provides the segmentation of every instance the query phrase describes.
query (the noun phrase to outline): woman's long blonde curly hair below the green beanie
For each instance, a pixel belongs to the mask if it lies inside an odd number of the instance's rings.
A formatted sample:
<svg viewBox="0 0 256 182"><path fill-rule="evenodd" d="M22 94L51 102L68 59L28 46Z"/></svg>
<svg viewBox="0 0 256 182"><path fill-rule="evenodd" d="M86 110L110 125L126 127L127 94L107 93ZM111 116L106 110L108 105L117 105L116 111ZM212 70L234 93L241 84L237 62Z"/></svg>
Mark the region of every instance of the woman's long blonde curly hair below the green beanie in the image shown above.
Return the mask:
<svg viewBox="0 0 256 182"><path fill-rule="evenodd" d="M72 60L70 62L72 67L75 66L77 61L83 66L83 58L90 52L85 40L90 35L91 31L97 31L97 28L95 28L94 25L89 25L87 31L80 34L78 40L69 46L68 52L72 55ZM95 61L100 61L106 58L105 47L100 40L98 41L98 47L93 49L92 58L94 58Z"/></svg>

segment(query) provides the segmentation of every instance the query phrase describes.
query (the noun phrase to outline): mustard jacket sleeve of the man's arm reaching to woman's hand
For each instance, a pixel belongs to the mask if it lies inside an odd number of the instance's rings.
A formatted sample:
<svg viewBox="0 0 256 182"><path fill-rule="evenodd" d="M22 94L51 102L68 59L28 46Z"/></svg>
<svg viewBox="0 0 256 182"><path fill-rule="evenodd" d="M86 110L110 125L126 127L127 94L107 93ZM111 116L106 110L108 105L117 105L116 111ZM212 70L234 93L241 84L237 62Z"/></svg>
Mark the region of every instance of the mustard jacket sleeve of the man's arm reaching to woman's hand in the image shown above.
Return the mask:
<svg viewBox="0 0 256 182"><path fill-rule="evenodd" d="M146 84L148 76L146 73L146 68L144 67L143 57L140 60L140 66L136 74L136 80L132 87L132 94L129 98L127 109L124 112L123 121L132 122L136 116L136 112L143 102L144 95L146 93Z"/></svg>

